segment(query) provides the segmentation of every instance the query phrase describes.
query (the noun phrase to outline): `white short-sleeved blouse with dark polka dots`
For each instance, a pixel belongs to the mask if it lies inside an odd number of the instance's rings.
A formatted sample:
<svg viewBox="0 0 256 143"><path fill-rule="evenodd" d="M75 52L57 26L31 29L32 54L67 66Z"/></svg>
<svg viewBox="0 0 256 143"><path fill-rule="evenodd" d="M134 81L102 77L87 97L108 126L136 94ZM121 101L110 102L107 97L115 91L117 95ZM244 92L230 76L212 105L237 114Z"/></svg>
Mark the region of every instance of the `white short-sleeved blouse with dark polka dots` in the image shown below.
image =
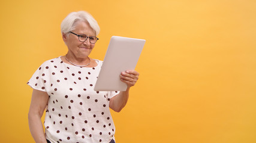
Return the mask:
<svg viewBox="0 0 256 143"><path fill-rule="evenodd" d="M28 85L49 95L44 126L50 142L110 142L115 125L110 98L119 92L94 91L103 61L76 67L60 57L44 62Z"/></svg>

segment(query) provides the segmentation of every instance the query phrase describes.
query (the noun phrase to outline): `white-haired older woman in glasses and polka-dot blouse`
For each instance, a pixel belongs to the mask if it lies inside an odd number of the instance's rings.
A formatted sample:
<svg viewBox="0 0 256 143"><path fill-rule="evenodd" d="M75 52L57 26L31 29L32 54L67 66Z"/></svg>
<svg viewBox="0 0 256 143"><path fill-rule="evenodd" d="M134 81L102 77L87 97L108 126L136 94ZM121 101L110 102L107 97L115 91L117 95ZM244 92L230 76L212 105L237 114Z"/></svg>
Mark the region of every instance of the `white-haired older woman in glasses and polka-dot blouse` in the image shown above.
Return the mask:
<svg viewBox="0 0 256 143"><path fill-rule="evenodd" d="M94 91L103 61L89 57L100 32L97 21L85 11L70 13L61 23L64 56L44 62L28 82L33 88L29 129L35 142L115 142L110 109L121 111L138 72L121 73L127 91ZM44 119L45 133L41 117Z"/></svg>

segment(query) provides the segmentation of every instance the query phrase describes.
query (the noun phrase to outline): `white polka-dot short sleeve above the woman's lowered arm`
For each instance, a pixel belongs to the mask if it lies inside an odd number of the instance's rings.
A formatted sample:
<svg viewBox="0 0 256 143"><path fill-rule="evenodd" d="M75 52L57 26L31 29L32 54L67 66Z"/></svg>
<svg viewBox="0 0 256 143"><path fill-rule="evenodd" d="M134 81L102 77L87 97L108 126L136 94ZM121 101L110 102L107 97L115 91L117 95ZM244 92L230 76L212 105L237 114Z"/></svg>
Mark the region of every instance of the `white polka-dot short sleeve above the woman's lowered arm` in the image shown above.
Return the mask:
<svg viewBox="0 0 256 143"><path fill-rule="evenodd" d="M46 92L46 82L47 82L47 73L44 69L47 67L42 64L33 74L31 79L28 81L28 85L31 86L33 89L37 89L38 91Z"/></svg>

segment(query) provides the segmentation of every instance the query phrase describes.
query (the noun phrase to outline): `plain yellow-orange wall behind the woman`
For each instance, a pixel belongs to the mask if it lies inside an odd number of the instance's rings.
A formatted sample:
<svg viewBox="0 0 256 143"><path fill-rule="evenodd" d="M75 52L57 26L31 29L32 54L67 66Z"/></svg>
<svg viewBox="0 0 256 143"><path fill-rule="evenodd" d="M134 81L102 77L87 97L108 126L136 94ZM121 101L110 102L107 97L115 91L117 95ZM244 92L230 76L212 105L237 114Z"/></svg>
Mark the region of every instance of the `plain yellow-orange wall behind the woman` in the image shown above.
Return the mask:
<svg viewBox="0 0 256 143"><path fill-rule="evenodd" d="M140 79L113 113L118 142L256 142L254 0L1 1L1 142L34 142L26 82L67 52L60 24L79 10L101 27L92 58L113 35L146 39Z"/></svg>

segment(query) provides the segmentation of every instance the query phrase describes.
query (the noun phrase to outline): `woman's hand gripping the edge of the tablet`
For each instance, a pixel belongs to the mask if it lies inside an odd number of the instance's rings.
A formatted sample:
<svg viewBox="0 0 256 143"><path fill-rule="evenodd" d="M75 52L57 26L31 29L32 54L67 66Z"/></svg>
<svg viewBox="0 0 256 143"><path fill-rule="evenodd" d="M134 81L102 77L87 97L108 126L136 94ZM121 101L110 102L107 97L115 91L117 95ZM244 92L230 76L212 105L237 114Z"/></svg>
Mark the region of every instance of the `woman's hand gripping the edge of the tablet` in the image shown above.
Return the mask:
<svg viewBox="0 0 256 143"><path fill-rule="evenodd" d="M135 70L127 70L125 72L122 72L120 77L121 81L127 83L128 88L130 88L131 86L134 86L137 82L138 75L139 73Z"/></svg>

